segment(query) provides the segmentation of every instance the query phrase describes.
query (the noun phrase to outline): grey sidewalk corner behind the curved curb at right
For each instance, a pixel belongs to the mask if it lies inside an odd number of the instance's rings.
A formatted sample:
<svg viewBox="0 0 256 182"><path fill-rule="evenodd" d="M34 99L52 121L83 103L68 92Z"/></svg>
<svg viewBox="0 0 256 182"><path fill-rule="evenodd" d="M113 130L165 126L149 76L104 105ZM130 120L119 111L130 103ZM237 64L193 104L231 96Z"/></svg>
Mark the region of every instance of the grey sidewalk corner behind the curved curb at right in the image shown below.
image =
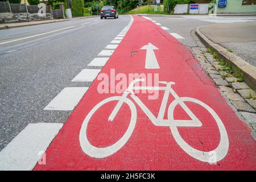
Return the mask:
<svg viewBox="0 0 256 182"><path fill-rule="evenodd" d="M211 24L200 32L247 63L256 66L256 22Z"/></svg>

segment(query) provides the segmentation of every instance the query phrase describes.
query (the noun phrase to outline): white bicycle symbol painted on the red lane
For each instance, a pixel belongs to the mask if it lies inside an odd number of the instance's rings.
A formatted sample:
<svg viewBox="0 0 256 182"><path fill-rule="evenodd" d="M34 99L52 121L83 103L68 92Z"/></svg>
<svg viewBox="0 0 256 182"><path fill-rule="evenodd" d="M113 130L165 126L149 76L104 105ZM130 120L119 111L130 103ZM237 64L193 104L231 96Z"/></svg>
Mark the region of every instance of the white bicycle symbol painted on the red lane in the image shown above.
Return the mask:
<svg viewBox="0 0 256 182"><path fill-rule="evenodd" d="M229 148L228 134L226 133L225 126L223 125L221 119L218 117L218 115L212 108L204 104L204 102L196 100L195 98L177 96L175 91L171 88L171 85L174 85L175 82L160 81L159 82L160 84L166 85L164 87L163 86L134 86L135 82L139 82L139 81L144 81L144 79L133 80L129 85L129 87L126 89L126 92L124 92L122 96L114 96L114 97L106 98L105 100L99 102L96 106L94 106L93 109L86 116L86 118L84 119L84 122L82 123L80 136L79 136L80 146L82 148L82 151L85 152L85 154L93 158L105 158L117 152L129 140L129 138L131 137L131 134L133 133L135 123L137 121L136 107L134 103L131 100L129 100L129 98L127 98L128 94L130 94L131 98L133 98L133 100L138 104L138 106L141 107L141 109L144 111L147 117L150 118L151 122L155 126L170 127L171 133L174 136L174 139L176 140L177 144L179 144L179 146L185 152L187 152L188 155L202 162L211 162L211 163L218 162L225 158ZM143 102L137 96L135 96L133 90L164 90L165 91L158 117L155 117L155 115L151 113L151 111L147 108L147 106L144 105ZM172 101L168 107L168 119L163 119L170 93L172 94L172 96L174 96L175 100ZM118 113L122 104L125 102L130 107L130 110L131 110L130 124L126 130L126 133L123 135L123 137L119 139L117 142L115 142L112 146L98 148L90 144L86 136L86 129L88 126L88 122L90 121L90 118L96 112L96 110L99 109L102 105L110 101L118 101L118 103L114 107L114 110L112 111L112 113L110 114L109 121L113 121L113 119L115 118L115 115ZM195 104L199 104L200 106L204 107L216 121L218 130L220 131L220 143L218 144L217 148L215 148L214 150L207 151L207 152L197 150L196 148L189 146L189 144L185 142L185 140L180 136L179 131L177 130L177 127L201 127L202 126L202 123L199 121L199 119L197 119L195 114L193 114L192 111L187 107L187 105L184 104L185 101L193 102ZM174 109L178 104L186 111L186 113L189 115L191 120L174 119ZM212 156L213 154L215 155L214 159Z"/></svg>

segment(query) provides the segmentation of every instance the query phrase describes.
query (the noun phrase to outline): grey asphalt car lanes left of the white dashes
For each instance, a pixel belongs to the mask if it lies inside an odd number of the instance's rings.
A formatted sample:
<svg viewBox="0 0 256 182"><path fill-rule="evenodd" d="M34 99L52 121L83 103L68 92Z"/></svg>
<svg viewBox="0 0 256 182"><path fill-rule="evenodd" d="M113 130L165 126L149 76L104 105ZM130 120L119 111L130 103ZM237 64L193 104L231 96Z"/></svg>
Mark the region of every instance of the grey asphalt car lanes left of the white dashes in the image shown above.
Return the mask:
<svg viewBox="0 0 256 182"><path fill-rule="evenodd" d="M28 123L67 120L72 111L44 107L65 87L90 85L71 80L129 21L125 15L0 30L0 151Z"/></svg>

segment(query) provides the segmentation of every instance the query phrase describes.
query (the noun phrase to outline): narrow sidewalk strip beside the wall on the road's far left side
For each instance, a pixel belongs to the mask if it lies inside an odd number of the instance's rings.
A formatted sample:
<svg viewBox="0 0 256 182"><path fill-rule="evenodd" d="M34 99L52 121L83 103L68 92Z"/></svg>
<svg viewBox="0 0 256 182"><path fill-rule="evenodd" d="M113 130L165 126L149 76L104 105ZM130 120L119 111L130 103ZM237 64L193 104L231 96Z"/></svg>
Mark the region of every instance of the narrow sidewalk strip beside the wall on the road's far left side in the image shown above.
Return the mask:
<svg viewBox="0 0 256 182"><path fill-rule="evenodd" d="M80 16L80 17L75 17L72 19L53 19L53 20L42 20L42 21L34 21L34 22L1 23L0 30L6 29L6 28L26 27L26 26L33 26L33 25L38 25L38 24L64 22L64 21L69 21L69 20L79 20L79 19L93 18L93 17L97 17L97 16Z"/></svg>

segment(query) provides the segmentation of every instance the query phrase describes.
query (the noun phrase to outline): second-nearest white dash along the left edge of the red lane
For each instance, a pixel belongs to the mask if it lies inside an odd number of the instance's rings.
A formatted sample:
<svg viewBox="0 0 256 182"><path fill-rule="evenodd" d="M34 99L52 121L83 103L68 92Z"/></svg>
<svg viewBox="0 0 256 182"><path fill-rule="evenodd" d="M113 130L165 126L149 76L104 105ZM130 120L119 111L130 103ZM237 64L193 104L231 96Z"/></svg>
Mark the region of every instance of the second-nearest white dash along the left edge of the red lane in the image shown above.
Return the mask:
<svg viewBox="0 0 256 182"><path fill-rule="evenodd" d="M87 87L64 88L44 110L73 110L87 90Z"/></svg>

